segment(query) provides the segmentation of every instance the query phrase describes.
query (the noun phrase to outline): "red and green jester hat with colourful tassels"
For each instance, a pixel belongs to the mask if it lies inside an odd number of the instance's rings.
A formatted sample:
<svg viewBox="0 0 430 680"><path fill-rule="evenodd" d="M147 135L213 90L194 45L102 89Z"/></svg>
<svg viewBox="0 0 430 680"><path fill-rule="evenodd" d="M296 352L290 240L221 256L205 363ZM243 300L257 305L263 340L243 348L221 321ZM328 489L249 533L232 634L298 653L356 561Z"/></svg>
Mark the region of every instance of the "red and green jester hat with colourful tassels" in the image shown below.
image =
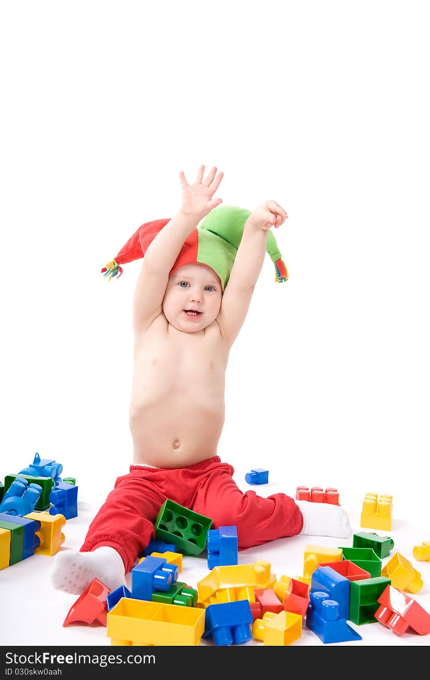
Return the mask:
<svg viewBox="0 0 430 680"><path fill-rule="evenodd" d="M220 277L222 292L227 286L230 272L235 261L237 249L244 233L245 222L250 211L235 205L221 205L214 208L188 236L180 250L176 262L169 272L169 276L191 262L208 265ZM144 257L148 246L163 226L171 218L145 222L121 248L114 260L108 262L101 270L108 281L114 276L122 274L121 265ZM276 282L286 281L288 271L278 249L274 235L269 231L267 235L267 252L275 265Z"/></svg>

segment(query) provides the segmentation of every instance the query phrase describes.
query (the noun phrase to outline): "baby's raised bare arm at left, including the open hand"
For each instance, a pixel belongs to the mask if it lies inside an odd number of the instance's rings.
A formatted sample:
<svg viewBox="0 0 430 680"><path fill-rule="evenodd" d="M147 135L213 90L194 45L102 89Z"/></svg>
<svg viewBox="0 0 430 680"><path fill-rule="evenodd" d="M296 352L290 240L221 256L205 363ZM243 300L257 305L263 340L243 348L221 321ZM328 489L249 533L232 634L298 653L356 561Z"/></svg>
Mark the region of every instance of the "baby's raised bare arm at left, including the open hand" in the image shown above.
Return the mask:
<svg viewBox="0 0 430 680"><path fill-rule="evenodd" d="M195 182L191 185L186 181L182 170L180 171L181 208L159 231L146 250L133 298L135 333L146 330L161 313L169 272L178 258L184 241L200 220L222 201L212 199L222 180L222 172L215 178L216 167L213 167L203 180L204 169L204 165L201 165Z"/></svg>

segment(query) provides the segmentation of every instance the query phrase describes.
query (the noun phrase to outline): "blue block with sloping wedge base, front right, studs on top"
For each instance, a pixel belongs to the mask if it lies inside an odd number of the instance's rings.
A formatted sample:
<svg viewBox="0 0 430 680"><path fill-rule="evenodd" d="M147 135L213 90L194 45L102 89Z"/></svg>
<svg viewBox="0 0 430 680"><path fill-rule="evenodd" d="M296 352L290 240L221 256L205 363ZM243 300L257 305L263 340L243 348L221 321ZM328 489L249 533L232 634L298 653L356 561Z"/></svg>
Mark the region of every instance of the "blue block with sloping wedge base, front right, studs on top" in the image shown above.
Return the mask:
<svg viewBox="0 0 430 680"><path fill-rule="evenodd" d="M340 617L339 603L331 600L327 593L318 590L310 593L306 626L325 644L361 640L361 635L348 626L346 619Z"/></svg>

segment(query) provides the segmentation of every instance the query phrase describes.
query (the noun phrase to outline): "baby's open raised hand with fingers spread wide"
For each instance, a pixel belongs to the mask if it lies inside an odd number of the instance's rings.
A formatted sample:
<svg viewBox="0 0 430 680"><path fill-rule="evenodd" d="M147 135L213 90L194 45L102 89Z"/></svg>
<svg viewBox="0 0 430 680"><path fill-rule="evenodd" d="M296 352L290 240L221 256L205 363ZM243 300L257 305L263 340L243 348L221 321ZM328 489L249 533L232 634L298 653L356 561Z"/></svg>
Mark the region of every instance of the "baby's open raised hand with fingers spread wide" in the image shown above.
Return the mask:
<svg viewBox="0 0 430 680"><path fill-rule="evenodd" d="M191 184L191 186L186 181L183 171L181 170L179 173L182 184L181 212L184 213L184 215L197 220L201 220L208 215L216 205L222 203L222 199L212 199L212 196L218 189L218 186L220 186L220 181L222 180L222 175L224 173L218 172L216 180L214 180L216 167L213 167L204 182L202 182L204 171L205 166L201 165L197 177L195 178L195 182L194 184Z"/></svg>

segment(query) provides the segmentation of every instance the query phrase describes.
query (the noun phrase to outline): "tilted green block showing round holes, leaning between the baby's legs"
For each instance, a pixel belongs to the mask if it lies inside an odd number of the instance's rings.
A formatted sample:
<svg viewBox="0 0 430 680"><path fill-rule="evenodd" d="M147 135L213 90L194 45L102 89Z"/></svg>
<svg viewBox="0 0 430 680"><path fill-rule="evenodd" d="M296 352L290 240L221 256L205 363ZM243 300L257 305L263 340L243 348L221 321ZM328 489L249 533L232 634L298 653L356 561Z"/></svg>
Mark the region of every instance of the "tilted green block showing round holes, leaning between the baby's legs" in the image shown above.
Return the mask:
<svg viewBox="0 0 430 680"><path fill-rule="evenodd" d="M199 555L205 549L210 517L199 515L167 498L154 522L157 541L174 543L184 555Z"/></svg>

